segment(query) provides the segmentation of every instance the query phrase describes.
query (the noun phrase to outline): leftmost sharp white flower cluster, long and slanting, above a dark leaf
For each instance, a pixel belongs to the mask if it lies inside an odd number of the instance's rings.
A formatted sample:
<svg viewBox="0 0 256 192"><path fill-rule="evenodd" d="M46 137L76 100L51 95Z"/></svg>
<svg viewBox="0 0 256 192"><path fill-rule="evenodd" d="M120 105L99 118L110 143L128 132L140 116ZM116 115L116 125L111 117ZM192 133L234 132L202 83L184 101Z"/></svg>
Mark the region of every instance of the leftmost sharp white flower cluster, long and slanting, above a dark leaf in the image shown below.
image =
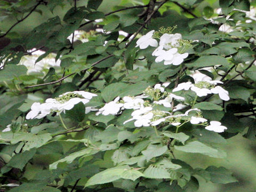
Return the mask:
<svg viewBox="0 0 256 192"><path fill-rule="evenodd" d="M45 100L45 103L35 102L31 106L31 111L26 116L26 119L33 118L43 118L46 115L49 115L53 111L60 114L62 111L65 113L65 110L72 109L77 103L83 102L84 104L89 102L92 97L97 96L97 94L85 92L85 91L73 91L66 92L64 94L59 95L58 98L49 98ZM93 107L86 107L85 113L89 113L90 111L97 110Z"/></svg>

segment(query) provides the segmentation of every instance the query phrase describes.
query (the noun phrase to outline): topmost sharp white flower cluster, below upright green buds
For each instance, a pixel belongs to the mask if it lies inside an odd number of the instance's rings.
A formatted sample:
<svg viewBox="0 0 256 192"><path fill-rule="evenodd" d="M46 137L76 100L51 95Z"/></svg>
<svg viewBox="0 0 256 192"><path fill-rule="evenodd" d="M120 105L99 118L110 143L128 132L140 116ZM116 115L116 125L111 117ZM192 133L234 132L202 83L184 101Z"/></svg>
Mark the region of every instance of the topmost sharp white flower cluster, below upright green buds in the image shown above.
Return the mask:
<svg viewBox="0 0 256 192"><path fill-rule="evenodd" d="M148 46L157 47L158 42L153 38L155 30L149 31L146 35L140 37L137 41L137 46L140 49L146 49ZM156 62L164 61L164 65L180 65L188 53L179 53L178 49L181 47L179 41L181 34L163 34L159 37L159 46L152 53L156 57Z"/></svg>

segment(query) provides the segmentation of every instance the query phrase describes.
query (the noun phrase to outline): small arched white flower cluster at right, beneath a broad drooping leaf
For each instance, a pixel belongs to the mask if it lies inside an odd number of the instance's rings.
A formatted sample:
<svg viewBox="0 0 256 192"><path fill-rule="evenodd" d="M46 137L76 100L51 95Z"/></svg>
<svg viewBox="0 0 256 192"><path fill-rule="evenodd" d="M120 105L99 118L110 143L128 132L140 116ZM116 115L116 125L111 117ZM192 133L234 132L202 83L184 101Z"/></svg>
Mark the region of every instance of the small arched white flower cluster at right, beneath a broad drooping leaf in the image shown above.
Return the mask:
<svg viewBox="0 0 256 192"><path fill-rule="evenodd" d="M207 94L219 94L220 99L224 101L229 100L228 91L223 89L221 86L215 86L218 83L222 84L221 81L201 81L196 84L192 84L191 82L180 83L178 86L172 90L172 92L181 91L181 90L191 90L196 93L198 97L206 96Z"/></svg>

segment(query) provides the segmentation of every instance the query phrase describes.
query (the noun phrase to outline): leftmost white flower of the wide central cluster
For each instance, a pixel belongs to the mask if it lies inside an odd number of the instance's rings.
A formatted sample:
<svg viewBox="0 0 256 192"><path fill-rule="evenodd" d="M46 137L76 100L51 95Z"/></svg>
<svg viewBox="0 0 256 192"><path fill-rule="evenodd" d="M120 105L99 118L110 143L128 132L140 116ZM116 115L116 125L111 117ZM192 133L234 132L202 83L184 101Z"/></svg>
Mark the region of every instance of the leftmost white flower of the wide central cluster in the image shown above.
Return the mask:
<svg viewBox="0 0 256 192"><path fill-rule="evenodd" d="M104 107L99 109L99 112L96 113L96 115L102 114L102 115L116 115L121 107L123 107L123 103L117 103L117 101L120 98L117 97L114 101L110 101L105 104Z"/></svg>

